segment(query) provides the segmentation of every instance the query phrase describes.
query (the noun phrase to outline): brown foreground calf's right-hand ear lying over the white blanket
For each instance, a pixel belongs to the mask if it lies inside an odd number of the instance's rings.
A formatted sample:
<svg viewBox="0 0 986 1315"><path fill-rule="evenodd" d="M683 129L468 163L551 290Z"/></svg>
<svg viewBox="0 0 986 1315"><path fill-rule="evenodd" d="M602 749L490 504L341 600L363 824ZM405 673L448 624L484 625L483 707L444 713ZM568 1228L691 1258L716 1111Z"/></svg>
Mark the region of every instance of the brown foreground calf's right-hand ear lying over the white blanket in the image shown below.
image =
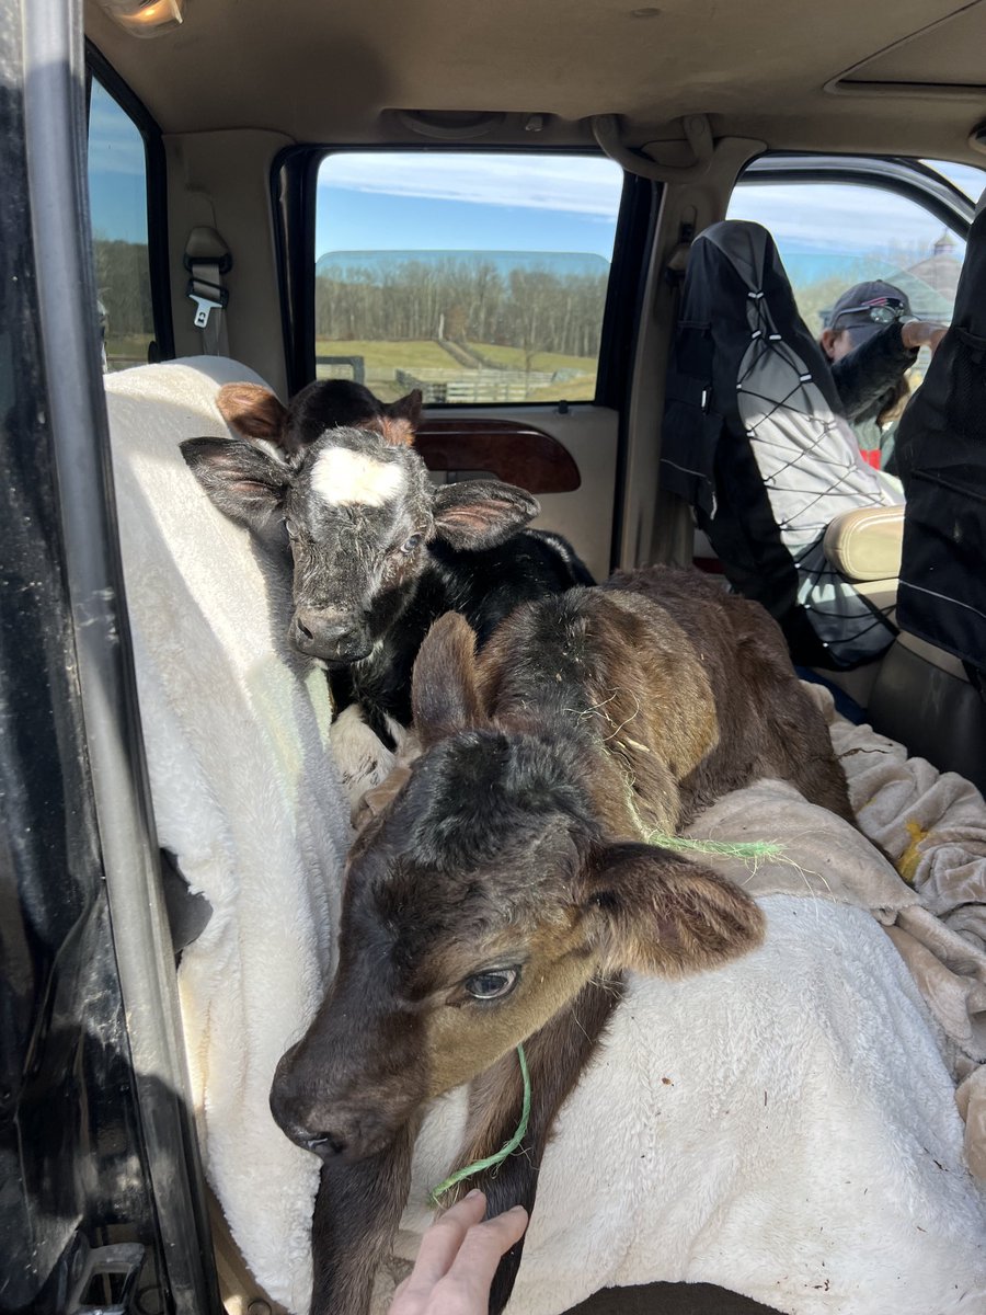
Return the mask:
<svg viewBox="0 0 986 1315"><path fill-rule="evenodd" d="M670 849L605 846L584 906L609 970L686 977L756 948L764 915L738 885Z"/></svg>

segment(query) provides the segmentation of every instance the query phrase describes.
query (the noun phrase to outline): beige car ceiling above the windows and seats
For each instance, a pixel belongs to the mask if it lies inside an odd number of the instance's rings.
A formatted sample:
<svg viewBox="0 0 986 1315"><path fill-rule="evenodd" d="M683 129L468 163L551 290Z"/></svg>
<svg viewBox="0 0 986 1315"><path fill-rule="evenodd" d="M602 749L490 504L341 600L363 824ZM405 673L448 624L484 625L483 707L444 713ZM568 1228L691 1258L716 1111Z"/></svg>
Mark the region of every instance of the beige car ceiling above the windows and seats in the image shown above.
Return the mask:
<svg viewBox="0 0 986 1315"><path fill-rule="evenodd" d="M482 110L489 145L577 145L615 113L640 145L705 113L774 149L986 163L985 0L187 0L155 39L85 0L85 30L168 133L401 142L394 110Z"/></svg>

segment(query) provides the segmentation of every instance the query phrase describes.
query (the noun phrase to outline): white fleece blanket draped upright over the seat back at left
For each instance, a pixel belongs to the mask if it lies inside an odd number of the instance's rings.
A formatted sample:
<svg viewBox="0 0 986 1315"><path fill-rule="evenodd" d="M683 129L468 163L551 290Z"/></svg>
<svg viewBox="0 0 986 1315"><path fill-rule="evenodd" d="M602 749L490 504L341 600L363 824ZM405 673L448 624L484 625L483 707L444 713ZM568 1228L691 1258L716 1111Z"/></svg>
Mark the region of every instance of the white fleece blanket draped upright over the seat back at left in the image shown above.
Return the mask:
<svg viewBox="0 0 986 1315"><path fill-rule="evenodd" d="M327 751L325 673L284 643L284 567L208 501L179 442L229 437L201 358L106 377L113 472L158 839L212 919L179 992L200 1141L234 1239L302 1310L317 1161L268 1109L338 924L348 806Z"/></svg>

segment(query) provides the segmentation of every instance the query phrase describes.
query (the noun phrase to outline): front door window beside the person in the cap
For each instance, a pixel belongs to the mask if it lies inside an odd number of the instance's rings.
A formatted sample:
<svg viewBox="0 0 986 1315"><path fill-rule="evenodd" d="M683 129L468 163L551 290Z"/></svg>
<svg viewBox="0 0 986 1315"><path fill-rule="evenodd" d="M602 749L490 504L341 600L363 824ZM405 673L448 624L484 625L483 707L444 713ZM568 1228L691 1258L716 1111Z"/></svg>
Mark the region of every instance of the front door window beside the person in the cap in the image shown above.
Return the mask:
<svg viewBox="0 0 986 1315"><path fill-rule="evenodd" d="M901 288L922 318L952 318L965 242L908 197L856 183L740 181L728 218L773 234L815 337L836 299L870 279Z"/></svg>

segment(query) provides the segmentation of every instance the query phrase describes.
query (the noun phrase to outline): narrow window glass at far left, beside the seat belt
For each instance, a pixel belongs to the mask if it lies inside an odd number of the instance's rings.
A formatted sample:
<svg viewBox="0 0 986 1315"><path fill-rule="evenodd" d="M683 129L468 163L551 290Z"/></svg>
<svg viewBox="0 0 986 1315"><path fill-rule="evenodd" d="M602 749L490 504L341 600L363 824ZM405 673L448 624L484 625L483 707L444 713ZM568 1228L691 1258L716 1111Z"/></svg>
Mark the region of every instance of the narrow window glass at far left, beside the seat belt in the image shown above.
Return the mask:
<svg viewBox="0 0 986 1315"><path fill-rule="evenodd" d="M147 160L137 125L95 78L88 174L103 368L125 370L147 360L154 338Z"/></svg>

